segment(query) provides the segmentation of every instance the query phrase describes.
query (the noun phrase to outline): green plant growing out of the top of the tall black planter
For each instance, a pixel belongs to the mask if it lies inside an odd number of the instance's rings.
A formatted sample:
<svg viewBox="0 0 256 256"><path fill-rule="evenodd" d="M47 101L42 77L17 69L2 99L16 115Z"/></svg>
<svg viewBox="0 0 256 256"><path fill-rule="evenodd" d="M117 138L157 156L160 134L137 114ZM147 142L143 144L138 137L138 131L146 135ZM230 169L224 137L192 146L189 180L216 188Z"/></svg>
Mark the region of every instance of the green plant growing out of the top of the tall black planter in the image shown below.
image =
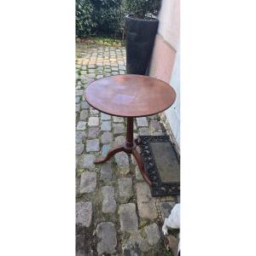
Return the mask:
<svg viewBox="0 0 256 256"><path fill-rule="evenodd" d="M158 15L160 0L124 0L125 10L128 14L138 18L151 18Z"/></svg>

